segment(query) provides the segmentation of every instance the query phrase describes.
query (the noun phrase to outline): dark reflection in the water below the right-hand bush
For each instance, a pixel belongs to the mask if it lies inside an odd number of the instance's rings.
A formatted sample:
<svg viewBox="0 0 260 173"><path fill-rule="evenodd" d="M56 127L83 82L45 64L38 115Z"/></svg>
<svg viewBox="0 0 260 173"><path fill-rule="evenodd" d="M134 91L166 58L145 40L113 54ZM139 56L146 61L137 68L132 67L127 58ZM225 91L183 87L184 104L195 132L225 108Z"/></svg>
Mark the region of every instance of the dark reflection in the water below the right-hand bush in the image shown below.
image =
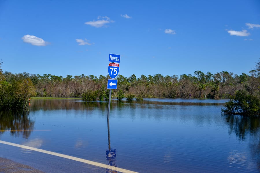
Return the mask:
<svg viewBox="0 0 260 173"><path fill-rule="evenodd" d="M239 140L250 138L250 150L260 170L260 119L241 115L223 115L229 125L229 133L235 133Z"/></svg>

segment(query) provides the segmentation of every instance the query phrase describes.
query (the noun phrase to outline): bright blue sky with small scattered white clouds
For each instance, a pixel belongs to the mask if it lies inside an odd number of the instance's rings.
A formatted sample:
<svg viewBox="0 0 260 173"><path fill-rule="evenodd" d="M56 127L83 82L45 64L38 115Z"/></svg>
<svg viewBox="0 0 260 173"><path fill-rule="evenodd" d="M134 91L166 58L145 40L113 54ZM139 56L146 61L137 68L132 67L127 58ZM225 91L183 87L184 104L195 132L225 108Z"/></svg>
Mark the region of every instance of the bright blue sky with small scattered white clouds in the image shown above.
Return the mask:
<svg viewBox="0 0 260 173"><path fill-rule="evenodd" d="M12 73L248 74L260 58L260 1L0 0L0 59Z"/></svg>

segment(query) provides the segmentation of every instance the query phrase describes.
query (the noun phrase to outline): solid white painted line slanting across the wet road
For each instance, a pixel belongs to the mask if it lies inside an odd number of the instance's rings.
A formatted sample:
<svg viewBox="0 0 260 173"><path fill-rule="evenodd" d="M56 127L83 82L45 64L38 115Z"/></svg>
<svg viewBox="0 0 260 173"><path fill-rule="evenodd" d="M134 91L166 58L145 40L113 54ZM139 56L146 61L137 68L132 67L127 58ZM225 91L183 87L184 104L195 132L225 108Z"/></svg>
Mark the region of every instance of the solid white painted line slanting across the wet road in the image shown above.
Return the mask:
<svg viewBox="0 0 260 173"><path fill-rule="evenodd" d="M0 143L6 144L6 145L11 145L11 146L16 146L16 147L24 148L24 149L28 149L28 150L38 151L38 152L41 152L41 153L54 155L54 156L58 156L58 157L63 157L63 158L66 158L66 159L75 160L75 161L87 163L87 164L90 164L90 165L99 166L101 168L107 168L107 169L114 170L114 171L119 171L119 172L124 172L124 173L137 173L137 172L134 172L134 171L118 168L118 167L115 167L115 166L109 166L109 165L106 165L106 164L103 164L103 163L98 163L98 162L94 162L94 161L90 161L90 160L86 160L86 159L81 159L81 158L77 158L77 157L73 157L73 156L69 156L69 155L65 155L65 154L55 153L55 152L52 152L52 151L42 150L42 149L39 149L39 148L34 148L34 147L26 146L26 145L15 144L15 143L6 142L6 141L2 141L2 140L0 140Z"/></svg>

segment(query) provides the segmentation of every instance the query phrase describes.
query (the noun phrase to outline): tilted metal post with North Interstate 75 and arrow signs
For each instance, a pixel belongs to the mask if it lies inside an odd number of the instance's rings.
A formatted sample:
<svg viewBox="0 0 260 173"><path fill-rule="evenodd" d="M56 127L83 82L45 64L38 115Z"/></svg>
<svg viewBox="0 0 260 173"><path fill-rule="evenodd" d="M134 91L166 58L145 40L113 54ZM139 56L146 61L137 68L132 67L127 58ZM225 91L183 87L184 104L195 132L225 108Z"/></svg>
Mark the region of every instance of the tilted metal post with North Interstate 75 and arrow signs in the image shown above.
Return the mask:
<svg viewBox="0 0 260 173"><path fill-rule="evenodd" d="M107 80L107 89L109 89L109 100L108 100L108 112L107 112L107 120L109 120L109 113L110 113L110 104L111 104L111 89L117 89L117 80L114 80L119 73L119 64L120 63L120 55L116 54L109 54L108 58L109 63L108 65L108 75L112 79Z"/></svg>

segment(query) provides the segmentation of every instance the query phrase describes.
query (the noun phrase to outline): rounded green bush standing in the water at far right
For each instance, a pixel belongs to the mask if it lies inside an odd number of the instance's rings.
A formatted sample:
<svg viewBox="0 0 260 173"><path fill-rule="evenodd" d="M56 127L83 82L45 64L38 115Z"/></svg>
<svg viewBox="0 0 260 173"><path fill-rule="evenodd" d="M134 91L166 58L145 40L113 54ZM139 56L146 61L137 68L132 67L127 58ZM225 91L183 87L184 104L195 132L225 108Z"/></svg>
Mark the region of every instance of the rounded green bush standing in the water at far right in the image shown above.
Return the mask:
<svg viewBox="0 0 260 173"><path fill-rule="evenodd" d="M259 96L249 95L244 90L236 91L231 96L229 102L224 105L222 112L225 114L243 114L247 116L260 115L260 99Z"/></svg>

